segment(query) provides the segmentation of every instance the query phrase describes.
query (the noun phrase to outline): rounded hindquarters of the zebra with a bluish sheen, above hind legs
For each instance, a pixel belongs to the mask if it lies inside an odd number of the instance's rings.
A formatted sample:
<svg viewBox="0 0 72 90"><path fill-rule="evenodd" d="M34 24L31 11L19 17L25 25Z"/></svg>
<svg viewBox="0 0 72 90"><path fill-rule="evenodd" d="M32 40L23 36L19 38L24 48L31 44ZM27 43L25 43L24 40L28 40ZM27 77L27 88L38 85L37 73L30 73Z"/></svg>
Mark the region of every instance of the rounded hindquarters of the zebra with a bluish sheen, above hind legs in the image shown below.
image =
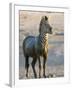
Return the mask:
<svg viewBox="0 0 72 90"><path fill-rule="evenodd" d="M28 36L23 41L23 51L25 56L35 56L35 38L34 36Z"/></svg>

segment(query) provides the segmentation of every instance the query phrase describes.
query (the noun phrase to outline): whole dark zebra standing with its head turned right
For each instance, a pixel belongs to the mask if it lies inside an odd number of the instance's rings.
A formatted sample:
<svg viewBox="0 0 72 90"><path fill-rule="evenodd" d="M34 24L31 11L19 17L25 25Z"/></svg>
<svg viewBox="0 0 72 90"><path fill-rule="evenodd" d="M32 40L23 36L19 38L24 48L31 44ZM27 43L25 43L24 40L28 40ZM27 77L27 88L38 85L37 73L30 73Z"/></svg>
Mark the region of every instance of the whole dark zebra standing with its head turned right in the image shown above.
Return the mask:
<svg viewBox="0 0 72 90"><path fill-rule="evenodd" d="M48 33L52 34L52 27L48 23L48 17L42 16L39 25L39 35L37 37L27 36L23 40L23 53L25 56L26 77L28 77L29 57L33 58L31 65L35 78L37 78L37 74L35 70L35 64L37 59L39 61L39 77L41 78L40 57L43 57L43 77L46 77L45 64L48 55Z"/></svg>

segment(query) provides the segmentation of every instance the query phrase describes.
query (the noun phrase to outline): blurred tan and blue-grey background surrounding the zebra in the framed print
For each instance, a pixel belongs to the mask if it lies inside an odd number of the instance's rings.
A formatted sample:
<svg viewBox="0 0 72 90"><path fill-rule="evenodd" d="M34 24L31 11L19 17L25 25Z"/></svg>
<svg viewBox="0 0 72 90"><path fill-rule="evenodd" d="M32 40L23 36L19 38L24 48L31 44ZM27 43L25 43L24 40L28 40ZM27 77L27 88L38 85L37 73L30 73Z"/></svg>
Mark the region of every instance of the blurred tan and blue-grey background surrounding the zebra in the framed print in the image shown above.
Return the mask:
<svg viewBox="0 0 72 90"><path fill-rule="evenodd" d="M19 12L19 79L33 79L32 58L29 58L29 72L26 77L25 57L23 55L23 40L27 36L39 35L39 24L42 16L47 16L52 26L52 35L48 35L48 57L46 61L46 77L64 76L64 13L57 12ZM41 57L41 78L43 77L43 58ZM39 78L39 62L35 65L37 78Z"/></svg>

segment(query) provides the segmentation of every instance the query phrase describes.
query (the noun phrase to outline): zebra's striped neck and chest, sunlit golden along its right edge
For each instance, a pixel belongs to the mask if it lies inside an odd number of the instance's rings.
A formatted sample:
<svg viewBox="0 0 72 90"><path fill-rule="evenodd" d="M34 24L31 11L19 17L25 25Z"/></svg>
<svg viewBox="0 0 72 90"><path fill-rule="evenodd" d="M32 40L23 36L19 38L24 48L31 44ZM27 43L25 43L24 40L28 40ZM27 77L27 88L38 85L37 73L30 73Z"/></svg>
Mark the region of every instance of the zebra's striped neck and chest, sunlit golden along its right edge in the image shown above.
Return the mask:
<svg viewBox="0 0 72 90"><path fill-rule="evenodd" d="M45 46L48 46L48 33L40 33L39 34L39 43L42 46L42 48L45 48Z"/></svg>

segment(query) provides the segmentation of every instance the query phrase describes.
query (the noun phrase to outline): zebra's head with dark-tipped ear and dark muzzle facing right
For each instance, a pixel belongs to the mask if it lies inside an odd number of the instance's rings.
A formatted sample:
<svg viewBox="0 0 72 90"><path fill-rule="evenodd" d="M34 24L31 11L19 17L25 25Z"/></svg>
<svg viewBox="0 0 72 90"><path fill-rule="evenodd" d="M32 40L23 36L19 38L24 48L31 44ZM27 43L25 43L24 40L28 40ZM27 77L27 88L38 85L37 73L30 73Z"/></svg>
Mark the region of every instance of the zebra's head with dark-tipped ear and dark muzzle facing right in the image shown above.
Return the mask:
<svg viewBox="0 0 72 90"><path fill-rule="evenodd" d="M49 33L52 34L52 27L50 26L48 22L48 17L43 16L41 21L40 21L40 28L39 28L40 33Z"/></svg>

